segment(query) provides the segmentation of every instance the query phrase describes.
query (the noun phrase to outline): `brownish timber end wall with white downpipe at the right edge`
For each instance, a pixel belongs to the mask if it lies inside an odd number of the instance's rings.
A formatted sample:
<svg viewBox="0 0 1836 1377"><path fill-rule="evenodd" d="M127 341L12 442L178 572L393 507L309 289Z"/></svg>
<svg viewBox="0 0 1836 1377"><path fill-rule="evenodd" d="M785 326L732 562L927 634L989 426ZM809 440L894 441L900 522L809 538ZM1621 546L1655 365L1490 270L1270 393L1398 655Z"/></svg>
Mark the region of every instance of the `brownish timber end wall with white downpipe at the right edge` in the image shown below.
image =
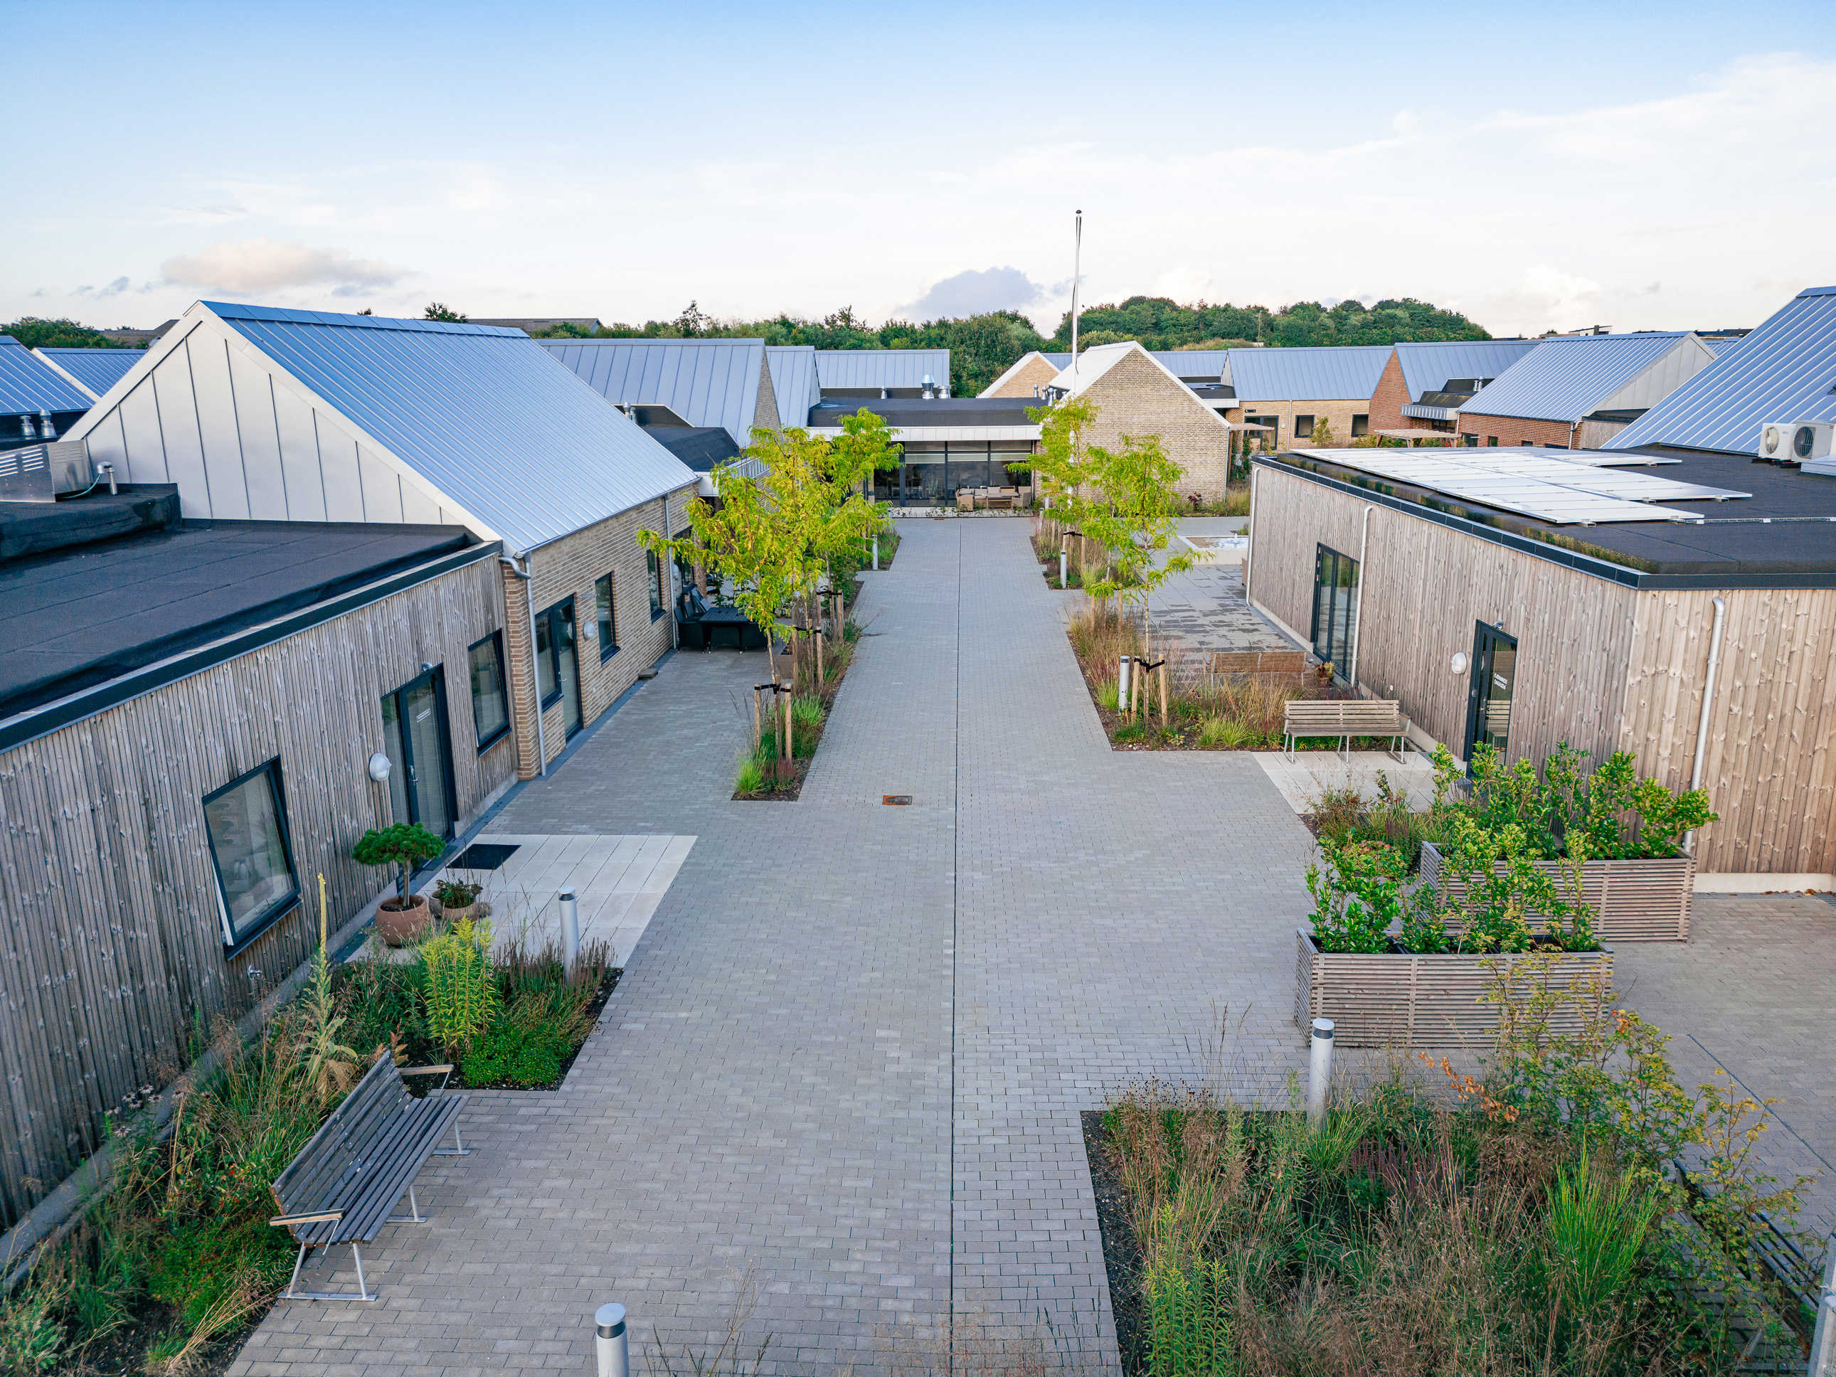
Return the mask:
<svg viewBox="0 0 1836 1377"><path fill-rule="evenodd" d="M1682 789L1695 762L1715 626L1709 591L1638 593L1621 742ZM1707 872L1836 870L1836 589L1724 589L1722 659L1702 786L1720 821L1696 839Z"/></svg>

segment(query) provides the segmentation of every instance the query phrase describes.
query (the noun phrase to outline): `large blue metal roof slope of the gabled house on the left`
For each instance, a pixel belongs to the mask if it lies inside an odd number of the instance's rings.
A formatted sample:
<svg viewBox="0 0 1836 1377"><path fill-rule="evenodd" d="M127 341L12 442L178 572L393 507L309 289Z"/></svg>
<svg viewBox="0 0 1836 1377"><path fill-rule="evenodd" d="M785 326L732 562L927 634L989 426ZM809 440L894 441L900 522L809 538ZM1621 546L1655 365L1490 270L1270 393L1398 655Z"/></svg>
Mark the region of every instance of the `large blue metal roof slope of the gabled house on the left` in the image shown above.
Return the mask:
<svg viewBox="0 0 1836 1377"><path fill-rule="evenodd" d="M518 553L696 481L521 330L202 305Z"/></svg>

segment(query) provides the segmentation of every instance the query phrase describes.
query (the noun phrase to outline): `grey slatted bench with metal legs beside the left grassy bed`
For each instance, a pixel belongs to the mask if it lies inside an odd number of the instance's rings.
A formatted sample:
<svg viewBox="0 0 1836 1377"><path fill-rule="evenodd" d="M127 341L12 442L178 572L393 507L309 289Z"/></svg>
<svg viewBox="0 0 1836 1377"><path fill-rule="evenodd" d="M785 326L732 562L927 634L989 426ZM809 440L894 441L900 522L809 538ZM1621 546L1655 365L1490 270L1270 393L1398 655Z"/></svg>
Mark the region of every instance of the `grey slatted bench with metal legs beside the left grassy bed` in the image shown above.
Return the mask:
<svg viewBox="0 0 1836 1377"><path fill-rule="evenodd" d="M466 1096L446 1094L452 1067L409 1067L397 1070L384 1052L345 1096L332 1116L274 1182L274 1201L285 1214L270 1219L294 1234L299 1256L281 1300L376 1300L364 1283L364 1243L375 1243L384 1225L424 1225L415 1201L415 1173L430 1157L466 1157L470 1148L459 1138L459 1111ZM426 1100L415 1100L402 1076L441 1076ZM446 1129L453 1146L441 1148ZM409 1214L389 1214L402 1192ZM356 1293L299 1291L299 1269L314 1248L349 1243L356 1259Z"/></svg>

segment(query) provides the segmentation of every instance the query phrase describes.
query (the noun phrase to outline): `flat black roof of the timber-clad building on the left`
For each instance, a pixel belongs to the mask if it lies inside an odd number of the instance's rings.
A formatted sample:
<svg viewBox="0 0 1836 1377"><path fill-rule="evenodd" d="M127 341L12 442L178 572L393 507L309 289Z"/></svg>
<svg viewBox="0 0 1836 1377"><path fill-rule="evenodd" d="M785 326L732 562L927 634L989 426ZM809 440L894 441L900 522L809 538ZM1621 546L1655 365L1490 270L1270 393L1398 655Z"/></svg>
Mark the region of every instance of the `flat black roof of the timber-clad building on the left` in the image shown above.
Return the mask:
<svg viewBox="0 0 1836 1377"><path fill-rule="evenodd" d="M0 722L470 543L444 525L180 521L0 562Z"/></svg>

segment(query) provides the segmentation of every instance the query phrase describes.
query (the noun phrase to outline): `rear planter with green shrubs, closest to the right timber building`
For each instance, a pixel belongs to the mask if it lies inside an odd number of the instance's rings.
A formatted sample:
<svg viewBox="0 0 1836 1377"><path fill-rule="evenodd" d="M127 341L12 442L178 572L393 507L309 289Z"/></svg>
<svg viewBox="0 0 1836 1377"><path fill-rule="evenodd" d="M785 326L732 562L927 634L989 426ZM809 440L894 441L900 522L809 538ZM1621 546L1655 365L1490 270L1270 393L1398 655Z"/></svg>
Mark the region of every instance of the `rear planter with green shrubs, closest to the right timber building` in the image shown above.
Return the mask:
<svg viewBox="0 0 1836 1377"><path fill-rule="evenodd" d="M1551 876L1579 857L1579 898L1594 911L1599 938L1687 942L1696 861L1684 850L1684 835L1715 821L1707 793L1673 793L1658 780L1638 778L1629 751L1616 751L1584 777L1583 760L1564 742L1540 769L1529 760L1506 767L1496 751L1476 747L1467 797L1438 808L1489 828L1520 826L1535 865ZM1445 799L1456 773L1452 756L1439 747L1438 799ZM1423 845L1421 876L1454 911L1463 905L1465 879L1449 870L1443 846Z"/></svg>

